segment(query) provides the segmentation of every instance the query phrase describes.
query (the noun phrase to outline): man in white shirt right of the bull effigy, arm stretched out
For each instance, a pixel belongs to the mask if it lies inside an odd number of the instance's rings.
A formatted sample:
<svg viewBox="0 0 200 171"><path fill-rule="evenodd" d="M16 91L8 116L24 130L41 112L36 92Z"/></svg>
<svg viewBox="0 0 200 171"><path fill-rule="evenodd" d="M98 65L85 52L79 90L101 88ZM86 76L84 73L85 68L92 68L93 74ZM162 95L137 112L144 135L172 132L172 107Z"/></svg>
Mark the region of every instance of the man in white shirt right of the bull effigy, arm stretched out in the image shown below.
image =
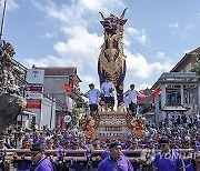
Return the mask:
<svg viewBox="0 0 200 171"><path fill-rule="evenodd" d="M146 95L134 90L134 84L131 84L130 90L127 90L123 94L128 97L129 110L133 114L136 114L137 113L137 97L138 95L146 97Z"/></svg>

